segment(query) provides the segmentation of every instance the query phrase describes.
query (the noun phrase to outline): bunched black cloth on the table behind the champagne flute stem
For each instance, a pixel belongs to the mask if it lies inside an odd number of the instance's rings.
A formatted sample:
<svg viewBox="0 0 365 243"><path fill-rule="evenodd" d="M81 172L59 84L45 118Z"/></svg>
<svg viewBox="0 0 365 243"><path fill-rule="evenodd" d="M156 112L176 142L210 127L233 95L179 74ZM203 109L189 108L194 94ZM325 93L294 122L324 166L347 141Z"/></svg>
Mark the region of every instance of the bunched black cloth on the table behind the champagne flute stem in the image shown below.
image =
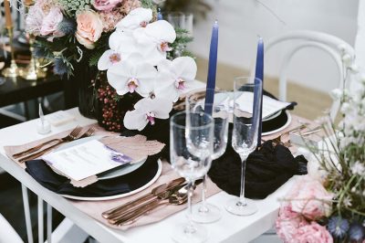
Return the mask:
<svg viewBox="0 0 365 243"><path fill-rule="evenodd" d="M240 194L241 160L231 143L224 155L213 162L208 174L226 193ZM307 174L307 160L302 155L295 158L287 147L267 141L247 158L245 197L263 199L294 174Z"/></svg>

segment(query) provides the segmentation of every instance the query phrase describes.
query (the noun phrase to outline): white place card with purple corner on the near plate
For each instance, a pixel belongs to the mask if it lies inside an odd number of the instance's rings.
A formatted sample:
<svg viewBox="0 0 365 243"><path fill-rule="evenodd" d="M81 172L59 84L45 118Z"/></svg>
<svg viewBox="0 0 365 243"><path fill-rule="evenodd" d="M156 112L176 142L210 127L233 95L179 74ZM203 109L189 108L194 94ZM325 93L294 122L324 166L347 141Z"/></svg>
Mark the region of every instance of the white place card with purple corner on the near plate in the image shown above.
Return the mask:
<svg viewBox="0 0 365 243"><path fill-rule="evenodd" d="M97 140L48 153L42 159L60 173L76 181L132 161L129 156L118 153Z"/></svg>

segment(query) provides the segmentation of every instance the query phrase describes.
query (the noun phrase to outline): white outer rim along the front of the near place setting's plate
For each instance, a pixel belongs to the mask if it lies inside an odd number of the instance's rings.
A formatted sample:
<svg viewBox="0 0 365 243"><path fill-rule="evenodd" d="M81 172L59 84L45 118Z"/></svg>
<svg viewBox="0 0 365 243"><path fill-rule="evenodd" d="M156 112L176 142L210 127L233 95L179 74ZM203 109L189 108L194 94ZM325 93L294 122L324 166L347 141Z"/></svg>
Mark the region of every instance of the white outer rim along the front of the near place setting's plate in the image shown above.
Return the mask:
<svg viewBox="0 0 365 243"><path fill-rule="evenodd" d="M145 185L142 185L140 188L130 191L129 193L120 194L120 195L100 196L100 197L84 197L84 196L76 196L76 195L62 195L62 196L67 197L69 199L75 199L75 200L81 200L81 201L105 201L105 200L117 199L117 198L139 193L139 192L143 191L144 189L146 189L147 187L149 187L150 185L152 185L155 181L157 181L157 179L162 174L162 161L159 159L157 161L157 164L158 164L159 168L157 169L157 173L153 176L151 181L149 181Z"/></svg>

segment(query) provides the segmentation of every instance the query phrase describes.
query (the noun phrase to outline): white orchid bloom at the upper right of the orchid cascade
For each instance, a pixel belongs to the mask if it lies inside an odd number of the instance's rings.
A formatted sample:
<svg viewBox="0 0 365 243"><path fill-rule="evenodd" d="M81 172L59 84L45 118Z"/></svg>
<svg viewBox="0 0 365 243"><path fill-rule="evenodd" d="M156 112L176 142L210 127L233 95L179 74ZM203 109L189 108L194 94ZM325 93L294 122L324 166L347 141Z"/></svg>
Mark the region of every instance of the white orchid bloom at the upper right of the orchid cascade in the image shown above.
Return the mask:
<svg viewBox="0 0 365 243"><path fill-rule="evenodd" d="M152 65L157 65L166 58L166 52L172 50L169 44L175 41L176 32L169 22L159 20L146 27L135 29L133 37L143 47L147 61Z"/></svg>

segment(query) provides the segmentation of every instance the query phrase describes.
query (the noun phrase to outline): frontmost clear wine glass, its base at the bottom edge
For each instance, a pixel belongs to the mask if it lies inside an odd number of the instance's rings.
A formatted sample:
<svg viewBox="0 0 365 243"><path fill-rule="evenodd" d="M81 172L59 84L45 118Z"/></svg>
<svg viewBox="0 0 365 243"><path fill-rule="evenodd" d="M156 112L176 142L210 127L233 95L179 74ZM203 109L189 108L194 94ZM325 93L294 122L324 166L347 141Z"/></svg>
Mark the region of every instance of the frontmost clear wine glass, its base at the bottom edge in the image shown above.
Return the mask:
<svg viewBox="0 0 365 243"><path fill-rule="evenodd" d="M203 242L207 238L204 227L192 221L193 183L203 177L211 166L214 122L203 112L181 111L170 122L170 157L173 169L188 182L188 223L178 225L172 234L177 242Z"/></svg>

